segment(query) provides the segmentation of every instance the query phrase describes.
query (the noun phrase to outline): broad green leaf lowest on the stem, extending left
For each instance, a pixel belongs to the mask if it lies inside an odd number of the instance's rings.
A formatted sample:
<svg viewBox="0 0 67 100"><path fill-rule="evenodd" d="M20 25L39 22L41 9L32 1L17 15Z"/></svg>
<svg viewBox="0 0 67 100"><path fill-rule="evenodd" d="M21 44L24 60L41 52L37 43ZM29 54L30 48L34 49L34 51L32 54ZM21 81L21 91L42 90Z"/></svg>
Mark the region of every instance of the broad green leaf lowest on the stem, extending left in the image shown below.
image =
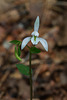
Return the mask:
<svg viewBox="0 0 67 100"><path fill-rule="evenodd" d="M24 74L24 75L29 75L29 67L23 64L16 64L18 70L20 71L20 73ZM32 70L31 70L32 73Z"/></svg>

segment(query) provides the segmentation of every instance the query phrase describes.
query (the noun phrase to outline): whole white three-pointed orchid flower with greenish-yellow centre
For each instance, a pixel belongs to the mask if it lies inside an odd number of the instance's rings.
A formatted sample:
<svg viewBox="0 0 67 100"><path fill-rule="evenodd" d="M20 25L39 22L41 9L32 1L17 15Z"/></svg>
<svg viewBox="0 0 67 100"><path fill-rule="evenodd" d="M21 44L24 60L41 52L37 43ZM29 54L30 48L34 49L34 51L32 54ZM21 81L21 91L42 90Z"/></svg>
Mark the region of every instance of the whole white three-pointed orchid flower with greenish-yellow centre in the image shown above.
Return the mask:
<svg viewBox="0 0 67 100"><path fill-rule="evenodd" d="M43 45L44 49L48 51L47 41L43 38L38 37L39 36L38 29L39 29L39 16L37 16L36 21L34 23L34 31L31 33L32 37L26 37L22 41L21 49L23 49L27 45L27 43L31 40L33 45L37 45L38 42L40 42Z"/></svg>

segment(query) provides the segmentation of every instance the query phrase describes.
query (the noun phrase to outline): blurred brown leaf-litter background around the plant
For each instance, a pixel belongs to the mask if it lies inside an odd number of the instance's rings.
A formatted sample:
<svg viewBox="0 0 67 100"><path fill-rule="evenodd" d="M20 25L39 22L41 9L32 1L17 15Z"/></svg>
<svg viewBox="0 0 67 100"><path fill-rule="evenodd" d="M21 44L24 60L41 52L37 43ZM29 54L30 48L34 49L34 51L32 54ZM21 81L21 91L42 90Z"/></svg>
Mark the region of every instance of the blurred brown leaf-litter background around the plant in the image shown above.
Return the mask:
<svg viewBox="0 0 67 100"><path fill-rule="evenodd" d="M49 51L39 43L32 55L33 100L67 100L67 0L0 0L0 100L29 100L29 77L16 68L29 64L29 50L19 62L9 41L30 36L37 16Z"/></svg>

